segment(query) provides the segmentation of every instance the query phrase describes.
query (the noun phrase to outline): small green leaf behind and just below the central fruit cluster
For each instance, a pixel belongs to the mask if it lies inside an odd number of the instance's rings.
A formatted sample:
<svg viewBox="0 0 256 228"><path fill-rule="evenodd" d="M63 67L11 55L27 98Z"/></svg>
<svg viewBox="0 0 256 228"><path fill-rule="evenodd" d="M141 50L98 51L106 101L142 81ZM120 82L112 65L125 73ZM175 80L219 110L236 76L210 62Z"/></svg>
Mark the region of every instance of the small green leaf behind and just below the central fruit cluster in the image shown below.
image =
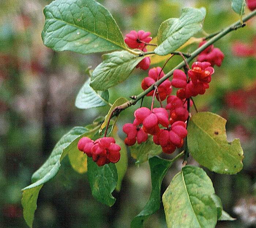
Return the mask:
<svg viewBox="0 0 256 228"><path fill-rule="evenodd" d="M135 158L136 164L144 163L148 160L149 155L158 155L162 153L162 148L159 145L156 145L153 141L153 136L148 135L148 140L142 142L141 144L136 144L129 146L131 150L131 156Z"/></svg>

